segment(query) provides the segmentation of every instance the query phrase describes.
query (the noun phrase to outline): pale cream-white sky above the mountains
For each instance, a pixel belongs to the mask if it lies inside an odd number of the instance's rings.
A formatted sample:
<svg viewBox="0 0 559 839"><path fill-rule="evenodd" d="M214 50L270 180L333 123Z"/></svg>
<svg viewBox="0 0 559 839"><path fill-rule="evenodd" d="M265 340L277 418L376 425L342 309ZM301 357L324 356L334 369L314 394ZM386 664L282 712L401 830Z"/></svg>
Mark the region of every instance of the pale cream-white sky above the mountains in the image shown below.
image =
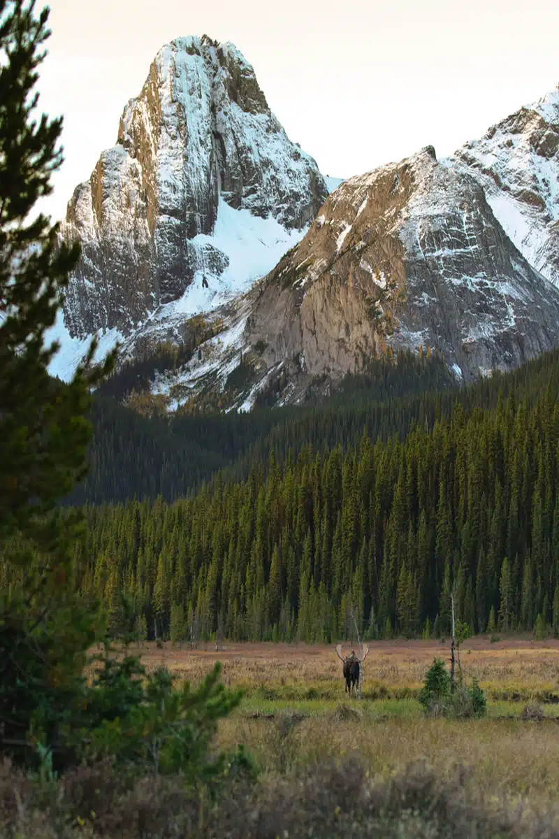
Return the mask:
<svg viewBox="0 0 559 839"><path fill-rule="evenodd" d="M41 105L65 116L44 209L65 213L116 141L158 49L232 41L289 137L349 177L432 144L438 157L559 82L554 0L50 0Z"/></svg>

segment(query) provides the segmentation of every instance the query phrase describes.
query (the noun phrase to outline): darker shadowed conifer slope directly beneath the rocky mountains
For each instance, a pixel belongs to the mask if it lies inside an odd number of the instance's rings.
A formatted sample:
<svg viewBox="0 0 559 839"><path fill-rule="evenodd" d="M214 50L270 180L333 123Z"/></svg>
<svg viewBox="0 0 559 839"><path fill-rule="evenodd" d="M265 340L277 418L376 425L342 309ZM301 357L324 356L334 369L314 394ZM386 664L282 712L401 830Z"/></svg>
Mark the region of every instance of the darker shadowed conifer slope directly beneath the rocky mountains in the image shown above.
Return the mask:
<svg viewBox="0 0 559 839"><path fill-rule="evenodd" d="M376 361L360 376L348 376L327 397L313 395L301 406L253 409L250 414L204 411L146 417L119 404L129 391L126 372L96 394L90 471L69 499L73 504L119 503L134 497L172 502L199 489L217 473L244 480L252 466L267 471L273 454L283 465L304 446L329 451L355 446L367 430L370 440L403 440L415 426L432 428L448 416L456 400L464 409L491 408L499 393L516 388L533 399L553 386L556 354L515 373L463 388L440 358L401 353ZM315 388L315 393L320 393ZM111 395L108 395L111 394Z"/></svg>

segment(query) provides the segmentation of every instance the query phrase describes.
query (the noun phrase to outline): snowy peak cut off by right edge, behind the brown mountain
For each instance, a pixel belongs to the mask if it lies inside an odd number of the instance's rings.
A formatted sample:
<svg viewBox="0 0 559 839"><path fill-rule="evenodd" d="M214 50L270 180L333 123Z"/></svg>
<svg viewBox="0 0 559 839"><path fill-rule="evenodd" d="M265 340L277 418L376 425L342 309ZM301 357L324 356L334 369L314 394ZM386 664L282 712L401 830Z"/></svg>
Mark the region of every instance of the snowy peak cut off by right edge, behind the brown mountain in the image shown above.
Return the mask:
<svg viewBox="0 0 559 839"><path fill-rule="evenodd" d="M458 149L501 226L559 285L559 88Z"/></svg>

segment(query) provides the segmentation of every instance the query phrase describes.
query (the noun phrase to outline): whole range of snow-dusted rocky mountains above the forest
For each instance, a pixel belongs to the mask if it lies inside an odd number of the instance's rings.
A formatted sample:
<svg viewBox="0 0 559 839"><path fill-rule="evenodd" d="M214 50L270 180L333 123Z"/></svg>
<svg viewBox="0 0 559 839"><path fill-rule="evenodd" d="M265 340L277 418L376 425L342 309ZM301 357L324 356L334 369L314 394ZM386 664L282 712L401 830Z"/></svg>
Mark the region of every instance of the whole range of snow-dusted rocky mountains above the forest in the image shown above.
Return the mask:
<svg viewBox="0 0 559 839"><path fill-rule="evenodd" d="M70 201L65 357L120 336L127 380L155 359L168 409L297 403L401 348L469 381L559 343L558 231L559 91L448 159L427 147L341 182L235 47L179 39ZM181 347L171 369L163 345Z"/></svg>

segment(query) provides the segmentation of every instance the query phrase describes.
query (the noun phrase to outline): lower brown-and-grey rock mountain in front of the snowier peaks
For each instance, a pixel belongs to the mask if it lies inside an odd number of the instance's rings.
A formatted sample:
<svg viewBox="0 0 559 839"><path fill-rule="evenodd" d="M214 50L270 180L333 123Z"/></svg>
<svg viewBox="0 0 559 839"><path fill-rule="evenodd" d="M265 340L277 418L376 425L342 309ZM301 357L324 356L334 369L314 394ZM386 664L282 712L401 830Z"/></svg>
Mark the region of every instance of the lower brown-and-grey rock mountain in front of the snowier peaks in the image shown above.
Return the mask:
<svg viewBox="0 0 559 839"><path fill-rule="evenodd" d="M261 284L246 344L298 383L388 347L436 348L459 377L559 343L559 290L515 247L483 187L434 149L351 178Z"/></svg>

